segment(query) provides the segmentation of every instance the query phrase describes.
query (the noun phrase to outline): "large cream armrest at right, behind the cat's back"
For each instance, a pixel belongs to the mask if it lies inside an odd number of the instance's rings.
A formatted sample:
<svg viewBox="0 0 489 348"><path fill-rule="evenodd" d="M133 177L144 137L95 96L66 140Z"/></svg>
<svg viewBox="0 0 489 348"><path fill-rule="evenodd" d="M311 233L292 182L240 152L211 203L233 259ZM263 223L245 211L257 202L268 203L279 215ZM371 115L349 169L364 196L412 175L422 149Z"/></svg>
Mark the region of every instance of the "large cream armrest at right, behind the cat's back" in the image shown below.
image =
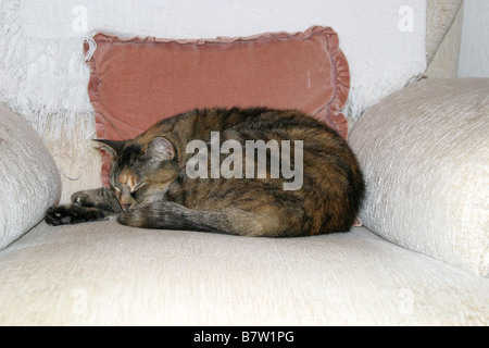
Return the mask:
<svg viewBox="0 0 489 348"><path fill-rule="evenodd" d="M489 79L423 80L366 112L350 144L367 183L364 225L489 274Z"/></svg>

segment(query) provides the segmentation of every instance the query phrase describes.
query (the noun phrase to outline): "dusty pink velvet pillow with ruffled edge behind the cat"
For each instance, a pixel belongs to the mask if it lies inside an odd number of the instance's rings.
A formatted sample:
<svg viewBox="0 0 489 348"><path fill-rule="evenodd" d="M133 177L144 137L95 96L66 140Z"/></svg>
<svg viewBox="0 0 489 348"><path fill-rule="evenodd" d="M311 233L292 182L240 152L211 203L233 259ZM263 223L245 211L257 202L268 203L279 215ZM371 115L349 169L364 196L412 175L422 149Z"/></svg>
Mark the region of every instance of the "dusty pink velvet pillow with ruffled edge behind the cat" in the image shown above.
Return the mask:
<svg viewBox="0 0 489 348"><path fill-rule="evenodd" d="M202 40L93 39L88 92L100 139L133 138L162 119L212 107L296 109L347 137L340 109L350 72L329 27ZM104 184L109 167L104 158Z"/></svg>

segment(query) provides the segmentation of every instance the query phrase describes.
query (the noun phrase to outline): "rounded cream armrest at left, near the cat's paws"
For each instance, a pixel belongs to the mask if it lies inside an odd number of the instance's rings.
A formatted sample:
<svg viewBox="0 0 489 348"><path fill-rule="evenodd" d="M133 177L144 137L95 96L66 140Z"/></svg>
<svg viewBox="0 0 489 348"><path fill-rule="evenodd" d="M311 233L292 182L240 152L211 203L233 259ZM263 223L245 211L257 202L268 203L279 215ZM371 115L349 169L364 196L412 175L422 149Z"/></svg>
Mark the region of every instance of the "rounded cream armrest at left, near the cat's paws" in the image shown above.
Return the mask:
<svg viewBox="0 0 489 348"><path fill-rule="evenodd" d="M24 117L0 104L0 249L42 220L61 194L58 167Z"/></svg>

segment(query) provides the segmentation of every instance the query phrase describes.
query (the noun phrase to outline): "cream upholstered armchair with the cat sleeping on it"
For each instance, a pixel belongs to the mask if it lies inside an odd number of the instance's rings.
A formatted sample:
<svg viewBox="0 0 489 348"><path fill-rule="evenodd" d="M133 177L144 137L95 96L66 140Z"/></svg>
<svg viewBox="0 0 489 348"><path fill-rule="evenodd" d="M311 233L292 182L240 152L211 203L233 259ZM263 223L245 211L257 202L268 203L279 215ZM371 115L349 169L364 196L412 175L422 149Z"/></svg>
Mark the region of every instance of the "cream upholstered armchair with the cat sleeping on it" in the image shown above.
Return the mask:
<svg viewBox="0 0 489 348"><path fill-rule="evenodd" d="M456 76L460 4L428 1L428 78L353 126L368 192L347 234L48 226L46 208L100 185L100 159L70 161L73 140L2 107L0 324L487 325L489 80L435 78Z"/></svg>

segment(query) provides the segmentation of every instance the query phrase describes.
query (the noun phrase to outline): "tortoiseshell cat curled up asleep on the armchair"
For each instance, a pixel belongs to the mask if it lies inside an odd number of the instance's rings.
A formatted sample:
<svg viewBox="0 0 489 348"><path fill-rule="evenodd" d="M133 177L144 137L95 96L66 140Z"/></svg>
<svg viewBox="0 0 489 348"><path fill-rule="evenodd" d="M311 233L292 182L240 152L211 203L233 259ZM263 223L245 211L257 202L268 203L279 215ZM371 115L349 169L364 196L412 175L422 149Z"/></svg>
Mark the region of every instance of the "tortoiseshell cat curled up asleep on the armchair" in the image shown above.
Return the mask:
<svg viewBox="0 0 489 348"><path fill-rule="evenodd" d="M98 141L113 158L111 186L50 208L48 224L117 216L142 228L311 236L350 231L365 190L347 141L298 111L195 110Z"/></svg>

